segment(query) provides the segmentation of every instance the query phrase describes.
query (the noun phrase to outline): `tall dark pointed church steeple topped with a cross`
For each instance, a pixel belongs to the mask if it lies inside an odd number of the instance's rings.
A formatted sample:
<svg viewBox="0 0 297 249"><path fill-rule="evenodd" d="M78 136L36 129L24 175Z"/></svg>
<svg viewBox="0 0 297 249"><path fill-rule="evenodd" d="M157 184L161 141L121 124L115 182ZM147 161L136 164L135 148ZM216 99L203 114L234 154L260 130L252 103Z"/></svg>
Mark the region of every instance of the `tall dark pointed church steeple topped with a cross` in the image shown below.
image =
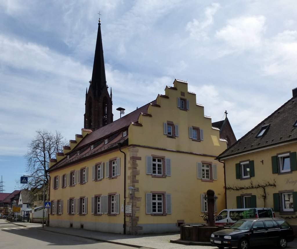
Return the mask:
<svg viewBox="0 0 297 249"><path fill-rule="evenodd" d="M93 73L86 93L84 128L95 131L113 122L111 94L106 85L101 23L99 19Z"/></svg>

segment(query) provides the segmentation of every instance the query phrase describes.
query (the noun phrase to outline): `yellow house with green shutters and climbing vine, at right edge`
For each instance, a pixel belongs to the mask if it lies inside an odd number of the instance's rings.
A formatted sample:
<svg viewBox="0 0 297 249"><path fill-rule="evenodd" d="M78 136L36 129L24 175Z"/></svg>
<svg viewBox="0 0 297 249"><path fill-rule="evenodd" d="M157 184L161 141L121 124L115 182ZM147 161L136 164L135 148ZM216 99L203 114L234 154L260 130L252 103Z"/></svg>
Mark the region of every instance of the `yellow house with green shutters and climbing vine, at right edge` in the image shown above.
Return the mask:
<svg viewBox="0 0 297 249"><path fill-rule="evenodd" d="M297 226L297 88L293 97L217 159L225 163L227 208L273 207Z"/></svg>

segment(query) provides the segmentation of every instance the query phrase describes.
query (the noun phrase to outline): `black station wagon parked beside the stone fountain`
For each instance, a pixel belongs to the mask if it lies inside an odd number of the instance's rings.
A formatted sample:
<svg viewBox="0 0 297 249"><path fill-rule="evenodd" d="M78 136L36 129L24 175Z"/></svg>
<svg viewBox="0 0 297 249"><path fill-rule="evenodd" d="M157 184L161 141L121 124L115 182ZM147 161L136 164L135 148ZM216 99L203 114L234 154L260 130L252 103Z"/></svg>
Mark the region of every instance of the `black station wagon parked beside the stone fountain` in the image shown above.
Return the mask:
<svg viewBox="0 0 297 249"><path fill-rule="evenodd" d="M228 229L211 234L210 242L218 248L278 245L286 248L295 238L292 227L282 218L247 218L236 221Z"/></svg>

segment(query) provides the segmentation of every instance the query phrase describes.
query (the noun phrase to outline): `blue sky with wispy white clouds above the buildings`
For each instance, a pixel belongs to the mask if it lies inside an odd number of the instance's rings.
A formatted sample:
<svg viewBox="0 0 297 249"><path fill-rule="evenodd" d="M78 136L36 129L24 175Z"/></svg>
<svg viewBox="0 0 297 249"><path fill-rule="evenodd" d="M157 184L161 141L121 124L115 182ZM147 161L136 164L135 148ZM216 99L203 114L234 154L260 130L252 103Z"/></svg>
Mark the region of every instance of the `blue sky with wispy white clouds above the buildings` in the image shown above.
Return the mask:
<svg viewBox="0 0 297 249"><path fill-rule="evenodd" d="M81 134L99 12L114 120L176 78L212 122L227 110L239 139L297 87L295 0L0 0L4 192L26 174L36 130Z"/></svg>

